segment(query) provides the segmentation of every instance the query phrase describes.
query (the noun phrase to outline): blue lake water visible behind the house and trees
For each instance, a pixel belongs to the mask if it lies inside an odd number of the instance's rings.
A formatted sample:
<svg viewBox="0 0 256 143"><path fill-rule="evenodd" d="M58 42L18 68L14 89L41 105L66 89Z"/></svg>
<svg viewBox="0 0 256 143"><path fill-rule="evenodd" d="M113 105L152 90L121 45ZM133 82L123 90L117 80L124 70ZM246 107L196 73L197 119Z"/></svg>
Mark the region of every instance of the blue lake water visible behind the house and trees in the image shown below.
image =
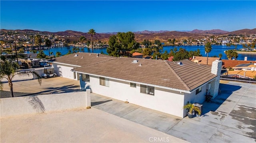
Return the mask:
<svg viewBox="0 0 256 143"><path fill-rule="evenodd" d="M196 51L197 49L200 50L200 53L202 56L206 57L206 53L204 51L204 45L200 45L200 46L164 46L163 50L161 50L160 52L164 52L167 51L168 53L170 53L171 49L174 49L174 47L176 47L177 49L180 49L180 47L182 47L183 49L186 49L187 51ZM69 47L54 47L54 48L50 48L50 52L53 52L54 55L56 54L56 52L60 52L62 55L65 55L66 53L68 53L68 51L70 50L72 52L72 46ZM80 49L82 49L82 47L79 47ZM238 45L236 49L240 49L242 48L242 45ZM220 53L222 53L222 59L228 59L226 54L224 53L224 51L229 50L229 49L234 49L234 46L222 46L222 45L212 45L212 51L209 53L209 57L213 57L214 55L218 57L218 55ZM46 55L49 55L49 51L48 49L42 49L44 51L44 53ZM107 48L94 48L94 53L105 53L107 54ZM92 52L91 48L84 48L84 52ZM29 53L29 51L25 51L25 53ZM238 60L244 60L244 57L247 57L248 61L256 61L256 55L253 54L238 54Z"/></svg>

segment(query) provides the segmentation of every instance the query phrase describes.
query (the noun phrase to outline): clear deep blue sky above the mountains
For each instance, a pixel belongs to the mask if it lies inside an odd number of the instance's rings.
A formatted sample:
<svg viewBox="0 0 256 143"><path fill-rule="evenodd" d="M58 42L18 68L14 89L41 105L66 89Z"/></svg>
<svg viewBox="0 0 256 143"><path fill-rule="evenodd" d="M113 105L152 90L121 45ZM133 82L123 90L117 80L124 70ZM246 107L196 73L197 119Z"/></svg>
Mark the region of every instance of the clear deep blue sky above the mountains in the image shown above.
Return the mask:
<svg viewBox="0 0 256 143"><path fill-rule="evenodd" d="M256 1L7 1L1 29L96 33L256 28Z"/></svg>

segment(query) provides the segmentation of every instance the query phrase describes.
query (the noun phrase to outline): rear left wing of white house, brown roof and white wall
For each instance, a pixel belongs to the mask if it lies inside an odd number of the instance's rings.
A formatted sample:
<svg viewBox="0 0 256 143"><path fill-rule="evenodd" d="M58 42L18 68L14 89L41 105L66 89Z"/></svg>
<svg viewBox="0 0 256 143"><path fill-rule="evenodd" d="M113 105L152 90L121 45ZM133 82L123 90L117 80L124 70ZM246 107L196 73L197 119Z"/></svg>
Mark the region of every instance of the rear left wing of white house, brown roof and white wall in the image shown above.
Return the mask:
<svg viewBox="0 0 256 143"><path fill-rule="evenodd" d="M98 54L97 57L97 54L95 53L92 55L91 53L74 53L50 59L48 62L52 63L52 66L54 67L54 72L57 74L57 76L79 80L79 74L71 71L72 69L106 61L113 58L116 57L102 54Z"/></svg>

